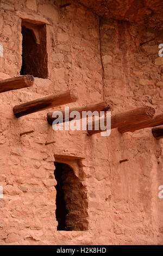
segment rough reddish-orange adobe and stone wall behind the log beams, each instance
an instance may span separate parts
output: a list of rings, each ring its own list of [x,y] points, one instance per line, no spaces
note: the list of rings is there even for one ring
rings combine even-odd
[[[46,120],[48,111],[17,119],[12,107],[75,88],[79,100],[67,106],[111,99],[114,113],[146,104],[160,114],[163,58],[158,57],[158,45],[163,33],[126,22],[99,26],[98,16],[75,2],[64,9],[59,1],[36,2],[0,5],[1,80],[20,74],[21,17],[28,14],[49,23],[48,78],[35,78],[33,87],[0,95],[1,245],[162,243],[162,143],[151,129],[124,135],[115,129],[109,137],[54,132]],[[33,129],[20,137],[20,132]],[[120,164],[125,158],[129,161]],[[87,189],[87,231],[57,231],[54,161],[61,160]]]

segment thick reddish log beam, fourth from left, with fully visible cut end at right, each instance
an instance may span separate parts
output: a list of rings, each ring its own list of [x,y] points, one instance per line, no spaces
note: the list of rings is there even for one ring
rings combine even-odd
[[[130,125],[136,122],[140,122],[142,120],[147,120],[149,118],[153,118],[155,113],[154,108],[148,106],[142,106],[139,108],[132,109],[130,111],[112,115],[111,116],[111,129],[121,127],[124,125]],[[89,135],[93,135],[95,133],[102,132],[101,129],[95,130],[96,123],[99,120],[93,121],[92,123],[92,130],[87,130]],[[104,118],[104,124],[106,125],[106,117]],[[100,127],[100,125],[99,125]]]

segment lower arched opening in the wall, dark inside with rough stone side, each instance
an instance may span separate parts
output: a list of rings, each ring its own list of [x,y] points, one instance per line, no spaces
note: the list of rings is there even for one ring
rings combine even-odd
[[[57,180],[56,210],[57,230],[80,230],[88,228],[86,187],[65,163],[54,162]]]

